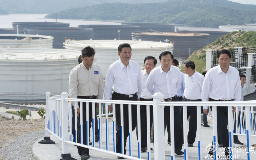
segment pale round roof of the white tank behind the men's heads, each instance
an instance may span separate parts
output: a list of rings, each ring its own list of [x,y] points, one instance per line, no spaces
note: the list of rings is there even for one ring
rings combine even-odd
[[[166,47],[165,42],[153,42],[153,41],[141,41],[141,40],[66,40],[65,44],[75,46],[92,46],[94,48],[113,48],[117,47],[122,43],[129,43],[132,49],[142,48],[159,48]],[[167,43],[168,47],[172,44]]]

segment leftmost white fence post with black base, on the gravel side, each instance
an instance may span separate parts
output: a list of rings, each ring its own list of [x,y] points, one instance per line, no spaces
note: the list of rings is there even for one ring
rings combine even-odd
[[[48,99],[47,97],[50,97],[51,93],[46,92],[46,98],[45,98],[45,129],[44,129],[44,140],[39,141],[38,143],[42,144],[55,144],[53,140],[51,140],[50,133],[49,131],[46,130],[47,128],[47,123],[48,123]]]

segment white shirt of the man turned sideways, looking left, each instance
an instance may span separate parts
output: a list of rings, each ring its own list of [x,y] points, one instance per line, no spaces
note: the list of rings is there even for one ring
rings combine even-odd
[[[201,99],[201,91],[205,77],[195,70],[195,73],[190,77],[184,74],[185,90],[184,97],[186,99]]]

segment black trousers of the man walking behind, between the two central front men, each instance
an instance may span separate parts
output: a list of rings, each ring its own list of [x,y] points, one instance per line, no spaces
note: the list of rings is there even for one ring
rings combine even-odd
[[[153,99],[141,98],[140,101],[153,101]],[[141,147],[147,146],[147,107],[146,105],[141,105]],[[150,119],[150,129],[153,124],[153,106],[149,106],[149,119]],[[136,127],[136,134],[138,139],[138,129]],[[151,133],[150,133],[151,137]]]

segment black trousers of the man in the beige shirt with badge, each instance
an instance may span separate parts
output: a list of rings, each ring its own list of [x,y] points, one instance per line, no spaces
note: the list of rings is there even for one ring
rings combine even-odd
[[[85,97],[84,96],[77,96],[77,98],[81,98],[81,99],[85,99]],[[92,99],[96,99],[97,97],[96,96],[94,96]],[[80,108],[80,103],[78,103],[78,105],[79,105],[79,108]],[[96,106],[96,103],[95,103],[95,106]],[[83,130],[83,142],[82,142],[82,144],[85,144],[86,145],[86,143],[87,143],[87,140],[86,140],[86,102],[83,102],[83,119],[82,119],[82,121],[83,121],[83,125],[82,125],[82,130]],[[77,121],[79,122],[78,124],[80,124],[80,113],[79,113],[79,117],[77,117]],[[88,122],[89,124],[90,123],[92,123],[92,103],[89,103],[89,122]],[[89,125],[89,124],[87,124],[87,125]],[[79,126],[77,126],[78,128],[80,128],[80,125]],[[77,131],[77,133],[78,133],[78,135],[77,135],[77,141],[78,141],[78,143],[81,143],[80,141],[81,141],[81,139],[80,139],[80,137],[81,137],[81,132],[80,132],[80,129]],[[89,153],[89,149],[88,148],[83,148],[83,147],[80,147],[80,146],[78,146],[78,154],[79,155],[81,155],[82,154],[82,152],[84,152],[84,153]]]

